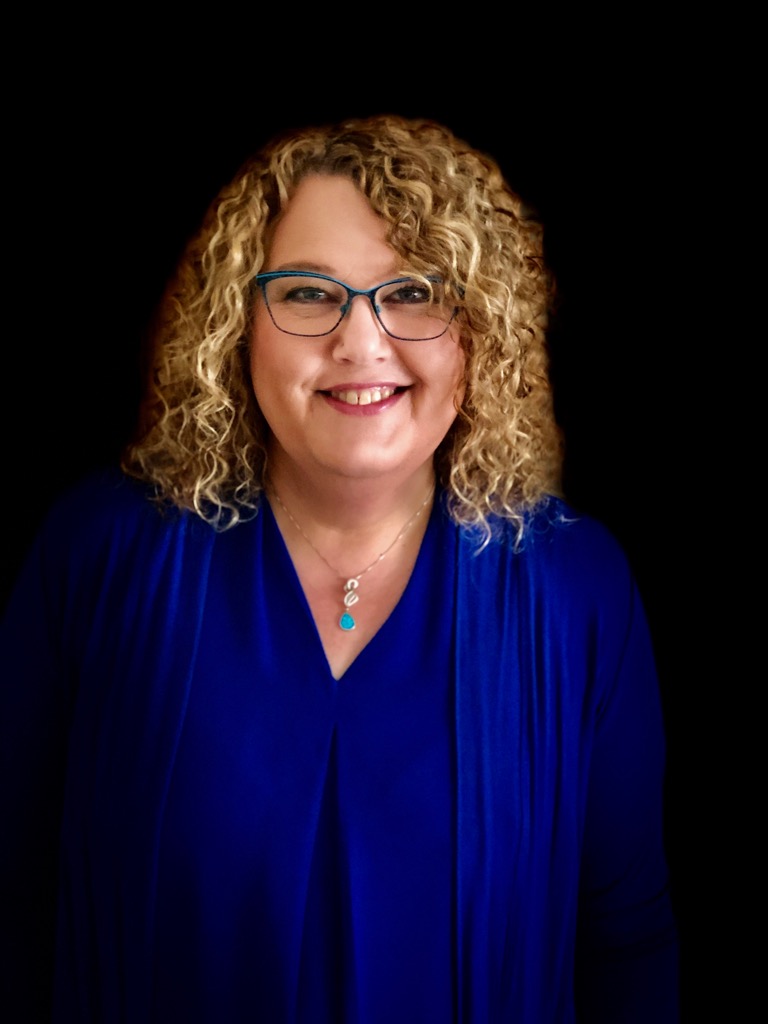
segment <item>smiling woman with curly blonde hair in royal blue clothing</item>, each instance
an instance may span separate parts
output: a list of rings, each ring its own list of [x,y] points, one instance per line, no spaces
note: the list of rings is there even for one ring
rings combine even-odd
[[[123,472],[4,626],[56,1020],[677,1019],[652,655],[557,497],[549,297],[429,122],[294,133],[218,197]]]

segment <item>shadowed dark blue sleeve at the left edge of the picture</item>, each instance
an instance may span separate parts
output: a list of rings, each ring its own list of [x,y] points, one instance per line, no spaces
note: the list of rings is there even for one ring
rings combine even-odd
[[[25,1020],[50,1015],[71,706],[46,547],[39,537],[0,621],[0,1016]]]

